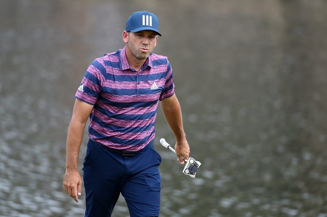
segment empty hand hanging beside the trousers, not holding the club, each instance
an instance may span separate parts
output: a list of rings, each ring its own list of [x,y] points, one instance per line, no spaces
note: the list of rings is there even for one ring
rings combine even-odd
[[[82,191],[82,179],[77,170],[66,170],[65,177],[63,179],[63,186],[65,192],[69,196],[73,197],[78,202],[78,196],[81,195]]]

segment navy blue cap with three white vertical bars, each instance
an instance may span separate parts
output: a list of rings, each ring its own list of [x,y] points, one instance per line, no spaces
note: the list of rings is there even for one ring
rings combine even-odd
[[[147,11],[134,12],[126,22],[127,32],[139,32],[142,30],[153,30],[161,36],[159,32],[159,20],[156,15]]]

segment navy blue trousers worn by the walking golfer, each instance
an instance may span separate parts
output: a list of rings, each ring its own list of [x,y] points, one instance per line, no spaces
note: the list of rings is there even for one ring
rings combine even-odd
[[[85,217],[110,217],[120,193],[130,217],[159,216],[160,163],[154,147],[126,157],[90,139],[83,164]]]

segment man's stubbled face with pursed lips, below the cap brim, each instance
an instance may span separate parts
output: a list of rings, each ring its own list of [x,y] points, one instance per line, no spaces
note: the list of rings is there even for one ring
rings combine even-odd
[[[157,44],[158,36],[152,30],[142,30],[140,32],[129,32],[127,46],[137,59],[146,59]]]

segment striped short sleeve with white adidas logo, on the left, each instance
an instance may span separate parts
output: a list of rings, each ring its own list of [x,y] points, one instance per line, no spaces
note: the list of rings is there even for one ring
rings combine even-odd
[[[86,70],[75,97],[88,104],[94,105],[101,92],[105,76],[106,68],[104,62],[100,58],[95,59]]]

